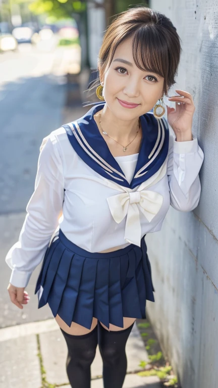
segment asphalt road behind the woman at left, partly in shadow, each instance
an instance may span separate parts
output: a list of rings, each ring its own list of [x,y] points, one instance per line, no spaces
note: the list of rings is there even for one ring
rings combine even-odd
[[[23,310],[13,305],[7,286],[11,270],[5,256],[17,241],[32,195],[44,136],[63,124],[66,85],[57,68],[60,53],[49,47],[22,45],[0,54],[0,327],[51,317],[37,309],[34,287],[39,268],[27,287],[31,297]]]

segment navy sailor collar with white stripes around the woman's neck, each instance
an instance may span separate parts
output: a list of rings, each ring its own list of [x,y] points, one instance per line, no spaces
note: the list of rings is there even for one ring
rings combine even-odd
[[[95,105],[84,116],[63,127],[75,152],[89,167],[104,178],[133,189],[150,178],[165,162],[169,149],[167,121],[157,120],[152,112],[140,116],[142,140],[133,179],[129,183],[93,117],[103,109],[104,104]]]

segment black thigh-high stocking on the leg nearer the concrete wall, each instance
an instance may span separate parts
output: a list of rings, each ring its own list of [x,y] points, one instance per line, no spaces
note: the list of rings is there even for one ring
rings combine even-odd
[[[108,331],[98,322],[98,346],[103,361],[104,388],[122,388],[127,370],[126,343],[134,323],[127,329]]]

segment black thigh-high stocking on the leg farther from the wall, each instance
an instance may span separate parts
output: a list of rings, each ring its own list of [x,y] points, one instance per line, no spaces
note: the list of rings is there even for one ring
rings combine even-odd
[[[71,335],[62,330],[68,347],[67,375],[73,388],[90,388],[91,363],[97,347],[97,325],[87,334]]]

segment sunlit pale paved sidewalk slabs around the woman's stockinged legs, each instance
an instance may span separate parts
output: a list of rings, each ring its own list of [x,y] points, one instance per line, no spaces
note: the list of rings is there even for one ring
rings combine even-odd
[[[70,388],[65,368],[66,344],[54,319],[1,329],[0,349],[0,388]],[[128,368],[123,388],[160,388],[156,376],[137,375],[140,361],[148,361],[148,355],[136,323],[126,352]],[[98,347],[91,378],[91,388],[103,388]]]

